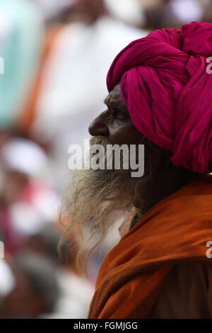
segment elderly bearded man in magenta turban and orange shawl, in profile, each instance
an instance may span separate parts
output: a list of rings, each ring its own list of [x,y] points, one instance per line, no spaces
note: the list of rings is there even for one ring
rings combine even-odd
[[[105,235],[133,207],[100,267],[89,318],[212,317],[212,24],[193,22],[135,40],[107,75],[107,110],[91,145],[144,145],[131,170],[82,170],[66,204],[71,225]]]

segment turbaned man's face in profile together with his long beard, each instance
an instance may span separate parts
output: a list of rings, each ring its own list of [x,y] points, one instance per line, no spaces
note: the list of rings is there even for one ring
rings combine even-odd
[[[93,135],[90,147],[102,145],[107,152],[107,148],[111,145],[141,145],[143,135],[131,123],[120,86],[114,88],[106,98],[105,104],[107,110],[90,124],[89,132]],[[148,154],[146,156],[148,159]],[[90,157],[93,157],[93,152],[90,152]],[[107,154],[102,158],[105,161]],[[122,165],[121,155],[119,159]],[[105,165],[107,166],[107,162]],[[63,198],[62,213],[64,212],[67,221],[66,230],[71,230],[75,225],[83,230],[83,227],[89,225],[91,239],[95,235],[100,235],[102,238],[120,214],[131,210],[134,206],[142,213],[147,209],[143,198],[148,198],[147,191],[150,193],[148,186],[150,172],[151,169],[147,164],[143,176],[131,176],[131,163],[128,169],[116,168],[113,164],[112,169],[91,167],[75,171]]]

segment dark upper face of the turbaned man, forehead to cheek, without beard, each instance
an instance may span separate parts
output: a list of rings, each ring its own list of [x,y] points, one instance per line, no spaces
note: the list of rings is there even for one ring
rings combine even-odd
[[[107,110],[100,113],[89,126],[90,135],[106,137],[112,145],[139,144],[143,135],[131,122],[119,85],[107,96],[105,104]]]

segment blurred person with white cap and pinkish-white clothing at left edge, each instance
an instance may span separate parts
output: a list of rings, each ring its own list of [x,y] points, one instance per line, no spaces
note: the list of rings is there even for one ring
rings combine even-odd
[[[6,252],[57,217],[57,193],[47,181],[47,155],[35,142],[14,137],[0,150],[0,228]]]

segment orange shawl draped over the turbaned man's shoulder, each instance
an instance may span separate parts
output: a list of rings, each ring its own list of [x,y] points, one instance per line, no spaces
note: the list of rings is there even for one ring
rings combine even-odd
[[[212,264],[212,175],[154,205],[100,267],[88,318],[145,318],[179,261]]]

